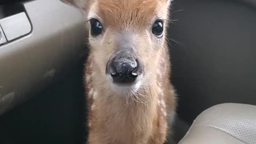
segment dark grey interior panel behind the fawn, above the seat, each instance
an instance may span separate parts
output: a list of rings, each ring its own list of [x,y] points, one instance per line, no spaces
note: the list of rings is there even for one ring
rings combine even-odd
[[[172,82],[179,94],[178,114],[189,124],[219,103],[256,105],[256,10],[246,2],[173,4]]]

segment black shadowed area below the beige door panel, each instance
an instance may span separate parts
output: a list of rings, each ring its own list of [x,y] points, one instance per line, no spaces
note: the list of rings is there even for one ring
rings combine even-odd
[[[87,134],[83,63],[0,116],[0,143],[82,143]]]

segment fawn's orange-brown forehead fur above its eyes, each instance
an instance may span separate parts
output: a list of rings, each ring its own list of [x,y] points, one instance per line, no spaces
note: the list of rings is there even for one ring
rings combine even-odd
[[[147,27],[166,15],[166,0],[98,0],[92,6],[104,25],[114,28]]]

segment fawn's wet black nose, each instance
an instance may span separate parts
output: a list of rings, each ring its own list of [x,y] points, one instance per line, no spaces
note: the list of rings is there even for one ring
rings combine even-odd
[[[115,83],[132,83],[137,78],[138,61],[134,57],[116,57],[110,64]]]

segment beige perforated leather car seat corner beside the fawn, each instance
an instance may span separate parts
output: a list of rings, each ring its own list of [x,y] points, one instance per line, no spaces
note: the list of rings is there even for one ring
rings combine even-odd
[[[256,106],[224,103],[200,114],[179,144],[255,144]]]

